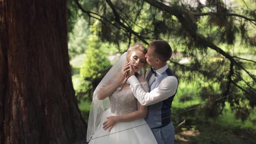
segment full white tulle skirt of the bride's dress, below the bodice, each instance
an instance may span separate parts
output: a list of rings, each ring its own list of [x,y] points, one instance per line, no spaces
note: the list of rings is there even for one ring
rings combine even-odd
[[[117,116],[109,108],[101,119],[100,128],[95,131],[89,144],[157,144],[144,118],[129,122],[118,122],[110,132],[104,130],[103,123],[109,116]]]

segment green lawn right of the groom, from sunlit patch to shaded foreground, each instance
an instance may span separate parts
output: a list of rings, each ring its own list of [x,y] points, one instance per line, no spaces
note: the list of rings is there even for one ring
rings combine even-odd
[[[255,144],[256,110],[242,121],[236,119],[235,112],[226,102],[222,115],[217,118],[205,117],[202,113],[207,105],[203,104],[207,103],[200,99],[198,88],[193,83],[179,85],[180,91],[174,98],[171,118],[176,133],[175,144]]]

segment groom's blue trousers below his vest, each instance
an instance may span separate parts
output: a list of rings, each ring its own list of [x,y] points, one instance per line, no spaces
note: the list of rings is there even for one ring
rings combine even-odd
[[[158,144],[174,144],[174,126],[172,123],[162,128],[151,128]]]

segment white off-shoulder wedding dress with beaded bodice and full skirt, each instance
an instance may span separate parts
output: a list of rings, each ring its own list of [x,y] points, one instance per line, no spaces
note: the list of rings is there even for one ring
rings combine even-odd
[[[148,83],[142,82],[142,88],[148,92]],[[131,89],[115,90],[109,97],[110,108],[102,115],[100,128],[95,131],[89,144],[157,144],[154,135],[144,118],[129,122],[118,122],[110,132],[103,129],[103,123],[109,116],[125,115],[137,110],[138,101]]]

